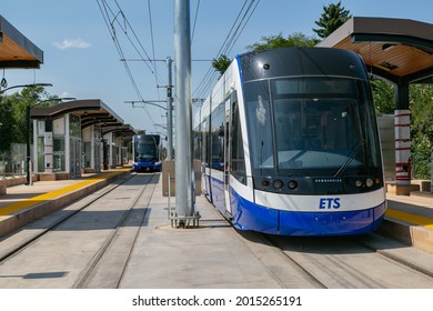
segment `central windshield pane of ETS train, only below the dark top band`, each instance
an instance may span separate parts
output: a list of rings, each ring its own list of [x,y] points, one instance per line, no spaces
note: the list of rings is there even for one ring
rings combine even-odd
[[[280,168],[335,167],[352,146],[362,141],[354,100],[302,99],[273,103]]]

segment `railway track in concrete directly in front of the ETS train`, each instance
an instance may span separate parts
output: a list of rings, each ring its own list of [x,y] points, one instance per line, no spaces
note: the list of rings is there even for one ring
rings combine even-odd
[[[332,238],[240,234],[284,288],[433,288],[431,254],[377,234]],[[281,258],[280,262],[269,262],[261,255],[263,252],[273,259]]]

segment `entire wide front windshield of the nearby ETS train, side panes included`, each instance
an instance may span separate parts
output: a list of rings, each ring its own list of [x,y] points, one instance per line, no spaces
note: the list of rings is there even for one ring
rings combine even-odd
[[[366,174],[381,168],[366,82],[280,78],[244,84],[255,175]]]

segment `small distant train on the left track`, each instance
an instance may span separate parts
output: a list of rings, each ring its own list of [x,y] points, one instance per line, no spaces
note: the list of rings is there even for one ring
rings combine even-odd
[[[135,172],[161,171],[161,137],[137,134],[132,137],[132,169]]]

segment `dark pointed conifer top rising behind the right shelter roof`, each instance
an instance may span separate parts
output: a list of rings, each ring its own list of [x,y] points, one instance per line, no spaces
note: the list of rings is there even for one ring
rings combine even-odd
[[[320,28],[313,28],[313,31],[318,33],[320,38],[324,39],[351,18],[350,11],[341,6],[341,1],[336,4],[331,3],[328,7],[323,6],[321,18],[315,21],[315,24]]]

